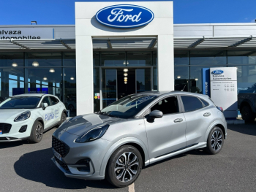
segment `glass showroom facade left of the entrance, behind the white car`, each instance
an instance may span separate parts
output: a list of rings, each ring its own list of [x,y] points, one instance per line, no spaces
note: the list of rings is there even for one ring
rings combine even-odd
[[[0,53],[0,96],[22,93],[58,96],[75,116],[75,52]]]

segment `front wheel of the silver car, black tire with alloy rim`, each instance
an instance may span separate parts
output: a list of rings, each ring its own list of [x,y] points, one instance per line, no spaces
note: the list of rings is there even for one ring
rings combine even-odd
[[[125,164],[124,155],[126,158],[129,157],[127,164]],[[143,159],[138,149],[131,145],[124,145],[119,147],[111,155],[106,168],[105,177],[112,185],[115,185],[118,188],[124,188],[137,180],[140,175],[142,165]]]

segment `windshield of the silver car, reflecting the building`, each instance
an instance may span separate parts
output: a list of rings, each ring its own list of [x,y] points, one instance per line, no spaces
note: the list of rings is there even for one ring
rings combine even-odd
[[[156,98],[157,96],[148,95],[126,96],[123,99],[113,102],[113,104],[101,110],[99,114],[116,118],[132,118]]]

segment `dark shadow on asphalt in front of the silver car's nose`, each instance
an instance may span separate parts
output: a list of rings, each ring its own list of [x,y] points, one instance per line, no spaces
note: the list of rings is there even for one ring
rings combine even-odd
[[[51,188],[83,189],[113,188],[105,180],[79,180],[64,176],[50,160],[53,157],[51,148],[26,153],[14,164],[15,172],[26,180],[43,183]]]

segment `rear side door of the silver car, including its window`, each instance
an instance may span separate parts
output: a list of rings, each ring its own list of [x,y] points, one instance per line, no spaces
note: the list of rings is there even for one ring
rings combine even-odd
[[[211,105],[197,96],[181,96],[187,122],[187,146],[205,141],[207,128],[214,122]]]

